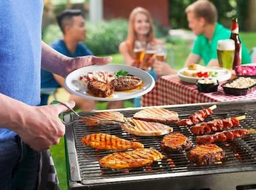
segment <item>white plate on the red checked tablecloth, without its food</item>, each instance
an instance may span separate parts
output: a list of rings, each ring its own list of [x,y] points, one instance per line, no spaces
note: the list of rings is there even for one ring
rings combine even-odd
[[[225,68],[221,68],[221,67],[207,67],[206,68],[208,72],[218,72],[217,75],[217,80],[219,80],[219,82],[225,81],[225,80],[229,80],[231,77],[231,72]],[[198,79],[201,79],[203,77],[189,77],[186,75],[183,75],[184,70],[187,70],[187,68],[183,68],[178,70],[178,77],[180,77],[181,80],[187,82],[187,83],[195,83]]]

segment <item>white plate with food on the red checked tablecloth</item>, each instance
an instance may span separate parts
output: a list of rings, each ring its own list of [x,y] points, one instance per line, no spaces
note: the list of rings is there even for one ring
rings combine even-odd
[[[178,71],[178,77],[187,83],[196,83],[200,79],[216,78],[219,82],[229,80],[230,70],[217,66],[202,66],[200,64],[189,64],[188,67]]]

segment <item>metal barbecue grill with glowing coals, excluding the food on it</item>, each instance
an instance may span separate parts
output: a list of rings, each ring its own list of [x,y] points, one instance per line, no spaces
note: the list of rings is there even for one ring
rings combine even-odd
[[[213,104],[217,104],[217,109],[205,121],[246,115],[246,119],[240,121],[241,127],[256,129],[256,100],[161,107],[176,111],[182,119],[188,118],[202,107],[210,107]],[[129,118],[143,108],[118,111]],[[86,116],[91,113],[80,113],[80,115]],[[75,120],[78,120],[78,117],[74,114],[64,115],[66,122]],[[181,132],[196,145],[195,135],[189,131],[189,127],[175,124],[170,124],[170,126],[173,127],[174,132]],[[116,151],[94,150],[81,143],[83,136],[96,132],[141,142],[145,148],[157,149],[165,155],[165,158],[146,167],[129,170],[103,168],[99,165],[99,159]],[[88,127],[83,123],[75,122],[72,126],[67,126],[65,140],[70,189],[256,189],[255,134],[242,139],[216,143],[225,151],[226,157],[222,162],[208,166],[190,164],[187,152],[164,153],[160,149],[162,137],[138,137],[128,134],[121,129],[118,123]]]

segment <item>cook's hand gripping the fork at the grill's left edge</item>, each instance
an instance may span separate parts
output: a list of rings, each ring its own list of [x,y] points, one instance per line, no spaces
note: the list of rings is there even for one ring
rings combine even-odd
[[[75,107],[75,102],[71,101],[67,105]],[[59,120],[59,114],[65,111],[67,107],[62,104],[29,107],[23,113],[20,128],[16,132],[35,151],[48,149],[51,145],[58,144],[65,134],[65,126]]]

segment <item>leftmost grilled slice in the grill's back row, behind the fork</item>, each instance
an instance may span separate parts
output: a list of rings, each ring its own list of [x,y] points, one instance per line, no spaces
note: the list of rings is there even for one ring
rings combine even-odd
[[[124,121],[124,115],[118,112],[100,112],[94,115],[89,115],[87,117],[81,118],[83,123],[86,123],[87,126],[97,126],[101,120],[117,120]],[[114,121],[102,121],[100,123],[104,124],[113,124]]]

